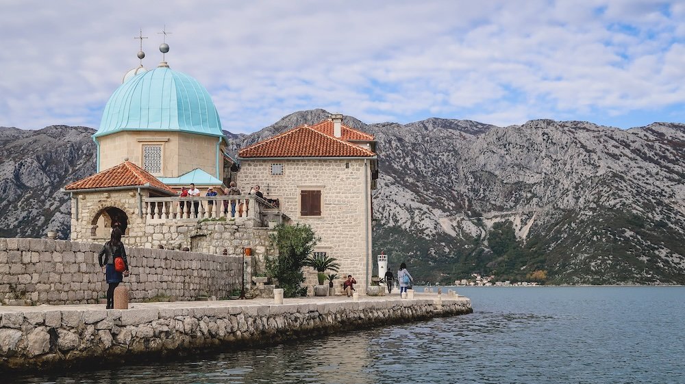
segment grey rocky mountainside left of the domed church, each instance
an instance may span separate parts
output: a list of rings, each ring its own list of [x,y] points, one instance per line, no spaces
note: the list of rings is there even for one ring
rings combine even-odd
[[[69,237],[67,183],[95,173],[94,129],[0,127],[0,237]]]

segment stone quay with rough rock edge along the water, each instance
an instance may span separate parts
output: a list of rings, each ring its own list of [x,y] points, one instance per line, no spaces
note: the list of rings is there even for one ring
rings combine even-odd
[[[140,303],[128,310],[0,307],[0,371],[271,344],[473,311],[468,298],[345,299]]]

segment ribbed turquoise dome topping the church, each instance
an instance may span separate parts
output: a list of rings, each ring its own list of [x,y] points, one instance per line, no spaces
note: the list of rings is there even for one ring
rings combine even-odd
[[[223,137],[207,90],[192,77],[160,67],[114,91],[95,137],[119,131],[182,131]]]

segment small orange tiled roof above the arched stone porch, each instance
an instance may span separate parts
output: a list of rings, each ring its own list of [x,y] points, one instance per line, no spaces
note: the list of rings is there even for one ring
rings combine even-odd
[[[127,186],[142,186],[149,183],[149,185],[174,192],[173,188],[169,187],[159,181],[153,175],[150,175],[146,170],[136,166],[132,162],[123,162],[118,166],[105,169],[95,175],[90,175],[85,179],[74,181],[66,185],[65,190],[90,190],[95,188],[112,188],[112,187],[127,187]]]

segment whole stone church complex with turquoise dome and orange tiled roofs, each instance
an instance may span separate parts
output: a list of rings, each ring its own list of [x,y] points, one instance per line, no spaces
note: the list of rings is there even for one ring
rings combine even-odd
[[[263,268],[269,231],[302,223],[335,257],[360,292],[371,275],[371,190],[377,179],[373,136],[336,114],[227,155],[227,138],[207,90],[166,62],[128,73],[93,135],[97,173],[64,187],[71,194],[71,240],[104,242],[112,227],[143,248],[242,255]],[[242,194],[225,196],[235,181]],[[194,184],[200,196],[179,196]],[[260,185],[264,199],[248,194]],[[206,196],[208,189],[218,195]],[[311,269],[311,268],[309,268]],[[307,283],[315,281],[308,272]]]

